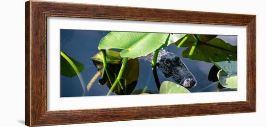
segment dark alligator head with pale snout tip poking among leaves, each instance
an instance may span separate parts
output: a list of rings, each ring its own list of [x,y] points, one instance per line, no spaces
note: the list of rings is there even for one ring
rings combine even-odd
[[[174,53],[163,55],[157,66],[162,69],[164,77],[171,77],[185,88],[191,88],[196,85],[196,79],[192,73]]]

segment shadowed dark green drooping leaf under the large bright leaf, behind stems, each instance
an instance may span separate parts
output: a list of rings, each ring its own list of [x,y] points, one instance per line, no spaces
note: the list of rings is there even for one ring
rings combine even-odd
[[[119,52],[113,50],[106,50],[106,61],[107,67],[110,71],[110,75],[113,79],[116,79],[121,67],[122,58],[119,56]],[[92,57],[92,61],[94,65],[98,68],[98,70],[103,74],[102,79],[99,80],[100,84],[106,84],[109,88],[111,88],[112,84],[109,82],[108,77],[105,73],[103,73],[103,59],[102,52],[97,53]],[[129,59],[126,67],[124,69],[124,73],[122,79],[119,84],[115,87],[114,92],[118,95],[130,95],[136,84],[139,76],[139,62],[137,59]]]

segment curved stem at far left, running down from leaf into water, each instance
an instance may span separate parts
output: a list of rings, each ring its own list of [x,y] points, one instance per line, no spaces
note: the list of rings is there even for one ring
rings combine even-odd
[[[71,67],[74,69],[74,71],[77,74],[77,77],[80,81],[80,84],[81,84],[81,87],[83,90],[83,95],[87,95],[88,91],[86,90],[87,88],[86,88],[84,79],[83,79],[82,75],[80,74],[79,70],[77,69],[77,66],[75,65],[75,63],[64,52],[60,51],[60,55],[62,57],[64,57],[66,59],[66,61],[71,65]]]

